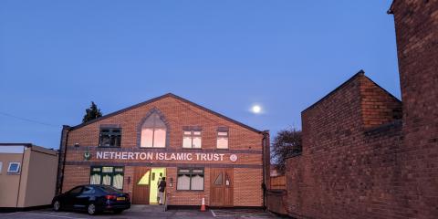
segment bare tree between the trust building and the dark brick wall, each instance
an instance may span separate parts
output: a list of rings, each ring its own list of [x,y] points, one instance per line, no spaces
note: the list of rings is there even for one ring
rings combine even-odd
[[[285,129],[276,133],[271,146],[271,157],[277,165],[277,172],[286,171],[286,159],[302,151],[301,130]]]

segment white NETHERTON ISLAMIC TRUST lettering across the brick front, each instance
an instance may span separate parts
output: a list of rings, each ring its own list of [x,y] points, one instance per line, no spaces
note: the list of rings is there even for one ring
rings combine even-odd
[[[224,153],[97,151],[98,160],[222,162]],[[230,158],[231,159],[231,158]],[[235,156],[237,160],[237,156]]]

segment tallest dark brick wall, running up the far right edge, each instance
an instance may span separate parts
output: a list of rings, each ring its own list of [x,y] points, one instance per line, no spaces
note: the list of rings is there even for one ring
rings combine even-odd
[[[395,0],[404,200],[416,218],[438,218],[438,1]]]

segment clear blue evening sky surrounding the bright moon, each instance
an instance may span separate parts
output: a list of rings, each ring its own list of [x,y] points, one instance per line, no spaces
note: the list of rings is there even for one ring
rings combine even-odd
[[[57,148],[91,100],[107,114],[168,92],[275,135],[360,69],[400,97],[390,5],[0,1],[0,142]]]

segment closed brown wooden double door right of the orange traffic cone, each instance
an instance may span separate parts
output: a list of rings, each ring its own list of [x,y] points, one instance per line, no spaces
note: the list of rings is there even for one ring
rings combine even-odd
[[[212,168],[210,178],[210,205],[233,206],[234,181],[232,168]]]

